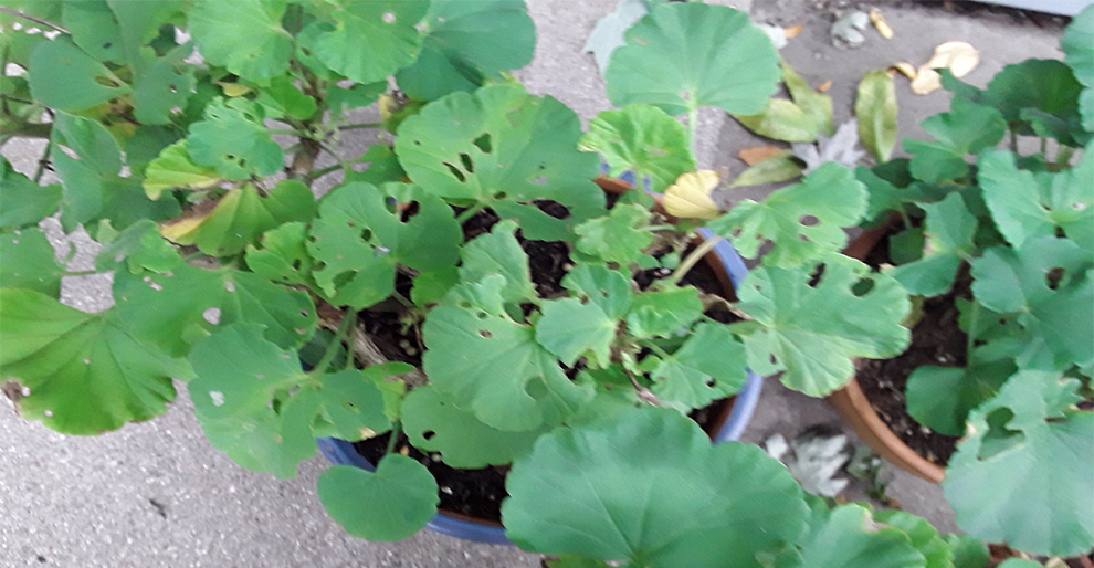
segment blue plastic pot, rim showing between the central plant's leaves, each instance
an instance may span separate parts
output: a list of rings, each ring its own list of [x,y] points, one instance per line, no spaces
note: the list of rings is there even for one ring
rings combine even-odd
[[[631,179],[627,179],[624,175],[622,179],[633,183],[633,176]],[[711,239],[714,233],[708,229],[699,229],[699,233],[705,239]],[[723,266],[725,266],[726,272],[729,274],[729,280],[733,282],[734,287],[740,284],[744,280],[745,274],[748,269],[745,267],[745,262],[740,260],[740,255],[734,250],[733,245],[728,241],[723,240],[720,243],[715,245],[714,252],[722,260]],[[764,387],[764,378],[756,375],[753,371],[748,371],[748,381],[745,387],[740,389],[737,393],[737,398],[734,401],[733,409],[729,411],[729,417],[726,422],[722,425],[722,429],[713,436],[714,443],[720,443],[726,441],[733,441],[740,438],[740,434],[745,431],[745,425],[753,418],[753,411],[756,410],[756,403],[759,401],[760,389]],[[368,471],[376,471],[376,466],[369,463],[364,456],[354,450],[354,444],[345,440],[338,440],[336,438],[322,438],[318,440],[319,452],[323,453],[330,461],[330,463],[336,465],[355,465]],[[454,536],[456,538],[462,538],[464,540],[473,540],[475,543],[488,543],[492,545],[512,545],[508,538],[505,537],[505,528],[483,523],[471,523],[454,518],[444,513],[438,513],[432,520],[425,525],[427,528],[440,533],[442,535]]]

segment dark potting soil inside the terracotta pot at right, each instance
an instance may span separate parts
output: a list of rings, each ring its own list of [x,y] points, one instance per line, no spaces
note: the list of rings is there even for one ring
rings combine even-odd
[[[888,262],[887,243],[886,238],[874,246],[865,259],[866,264],[879,266]],[[912,418],[904,391],[908,376],[921,366],[965,366],[968,336],[957,326],[958,311],[954,302],[959,297],[972,297],[970,284],[968,267],[962,266],[948,293],[924,302],[923,317],[912,328],[912,345],[906,351],[892,359],[863,359],[856,366],[859,386],[890,430],[917,454],[943,466],[956,451],[960,438],[935,432]]]

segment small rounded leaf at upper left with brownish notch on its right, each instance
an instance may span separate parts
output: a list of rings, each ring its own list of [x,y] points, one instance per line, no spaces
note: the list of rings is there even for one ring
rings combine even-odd
[[[31,94],[57,111],[83,111],[132,91],[67,35],[39,44],[28,69]]]

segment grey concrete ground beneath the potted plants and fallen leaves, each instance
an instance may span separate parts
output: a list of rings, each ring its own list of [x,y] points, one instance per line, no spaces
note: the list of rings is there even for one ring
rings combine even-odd
[[[580,53],[597,19],[614,0],[572,2],[528,0],[539,43],[535,61],[517,73],[529,91],[551,94],[583,118],[608,108],[591,55]],[[761,22],[803,24],[782,55],[812,85],[833,82],[837,122],[851,116],[859,78],[896,61],[926,62],[935,45],[950,40],[972,43],[981,63],[967,81],[983,85],[1003,65],[1027,57],[1062,56],[1058,20],[1028,19],[990,11],[955,14],[939,6],[883,3],[895,38],[873,30],[858,50],[834,48],[828,39],[832,10],[850,0],[720,0],[751,10]],[[862,3],[862,6],[866,6]],[[897,77],[901,136],[922,137],[917,126],[944,111],[948,95],[912,95]],[[737,151],[766,144],[720,112],[704,112],[699,129],[701,166],[744,169]],[[349,143],[354,148],[364,140]],[[3,152],[27,172],[39,150],[27,140],[9,143]],[[357,151],[357,155],[360,152]],[[754,197],[741,192],[730,199]],[[755,196],[758,197],[758,196]],[[54,241],[63,236],[54,234]],[[85,251],[86,253],[86,251]],[[86,262],[86,257],[77,259]],[[77,269],[77,266],[72,266]],[[65,302],[103,308],[109,276],[65,283]],[[183,392],[164,416],[117,432],[77,439],[19,419],[0,402],[0,566],[93,567],[535,567],[538,558],[512,547],[464,543],[421,533],[399,543],[368,543],[348,536],[323,511],[315,482],[327,466],[320,457],[304,462],[299,476],[278,481],[242,470],[206,441]],[[822,401],[787,391],[768,381],[745,435],[759,442],[780,432],[788,436],[818,423],[839,425]],[[895,474],[891,496],[944,532],[953,513],[940,491],[908,475]]]

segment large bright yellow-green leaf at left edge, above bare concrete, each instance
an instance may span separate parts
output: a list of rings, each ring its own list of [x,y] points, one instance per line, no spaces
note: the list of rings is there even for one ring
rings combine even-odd
[[[30,395],[19,413],[67,434],[97,434],[166,410],[190,366],[146,344],[113,312],[85,314],[30,290],[0,290],[0,375]]]

